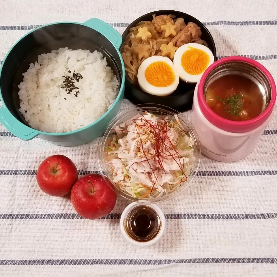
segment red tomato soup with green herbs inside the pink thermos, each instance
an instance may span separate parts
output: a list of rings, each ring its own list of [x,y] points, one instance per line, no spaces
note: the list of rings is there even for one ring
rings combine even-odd
[[[240,75],[225,75],[215,80],[207,88],[205,99],[217,115],[233,121],[253,119],[263,109],[258,85]]]

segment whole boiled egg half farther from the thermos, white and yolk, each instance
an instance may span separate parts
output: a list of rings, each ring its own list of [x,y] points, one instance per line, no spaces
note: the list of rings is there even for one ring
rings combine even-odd
[[[168,96],[179,84],[179,74],[171,59],[152,56],[145,59],[138,69],[141,89],[156,96]]]

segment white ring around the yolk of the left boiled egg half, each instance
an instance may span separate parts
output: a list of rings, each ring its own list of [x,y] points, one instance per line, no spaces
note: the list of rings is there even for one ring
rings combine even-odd
[[[172,68],[172,70],[175,74],[175,81],[173,82],[173,84],[169,85],[168,87],[155,87],[155,86],[149,84],[145,78],[146,68],[151,63],[154,63],[156,61],[166,62]],[[145,59],[139,66],[137,77],[138,77],[138,82],[139,82],[139,86],[141,87],[141,89],[149,94],[156,95],[156,96],[170,95],[171,93],[173,93],[173,91],[176,90],[176,88],[179,84],[179,74],[178,74],[177,70],[174,68],[173,62],[171,61],[171,59],[169,59],[167,57],[162,57],[162,56],[152,56],[152,57]]]

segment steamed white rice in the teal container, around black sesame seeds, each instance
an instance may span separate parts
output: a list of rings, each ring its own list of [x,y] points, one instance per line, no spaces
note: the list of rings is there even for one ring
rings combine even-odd
[[[77,97],[75,90],[67,94],[61,88],[62,76],[71,77],[74,70],[83,76],[74,83]],[[39,55],[22,75],[19,111],[32,128],[44,132],[69,132],[89,125],[108,110],[119,90],[116,76],[98,51],[60,48]]]

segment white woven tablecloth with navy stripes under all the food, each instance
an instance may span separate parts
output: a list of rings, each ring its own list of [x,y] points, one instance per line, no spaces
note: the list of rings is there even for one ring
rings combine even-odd
[[[135,18],[159,9],[195,16],[212,33],[219,57],[256,59],[277,81],[274,0],[1,0],[0,63],[39,25],[98,17],[122,33]],[[131,105],[124,100],[121,108]],[[0,276],[276,276],[276,138],[275,113],[246,159],[203,157],[193,184],[160,204],[167,224],[162,241],[142,250],[119,231],[126,200],[119,197],[111,214],[92,221],[81,219],[68,198],[38,189],[38,164],[53,154],[70,157],[80,175],[97,171],[98,140],[59,147],[37,138],[21,141],[0,126]]]

